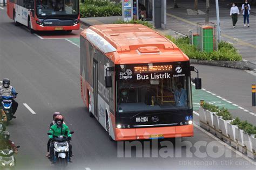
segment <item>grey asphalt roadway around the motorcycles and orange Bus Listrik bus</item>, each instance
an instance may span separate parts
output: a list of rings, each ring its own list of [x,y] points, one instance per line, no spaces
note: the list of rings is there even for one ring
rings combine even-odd
[[[118,152],[117,146],[130,143],[111,142],[102,126],[85,110],[80,98],[79,48],[64,39],[41,40],[24,26],[14,26],[5,12],[0,9],[0,79],[9,77],[19,93],[17,119],[7,128],[11,139],[21,146],[16,156],[17,169],[55,169],[44,156],[46,133],[54,111],[62,112],[70,130],[75,131],[72,140],[75,155],[67,169],[255,169],[250,161],[197,128],[193,138],[176,141],[175,148],[171,148],[173,140],[163,140],[153,149],[147,148],[149,141],[142,141],[138,145],[143,144],[143,155],[136,157],[136,151],[143,149],[133,147],[129,158],[127,147],[128,158],[118,158],[122,152]],[[23,103],[36,114],[31,114]],[[186,154],[186,147],[180,146],[184,141],[194,146],[190,148],[192,157]],[[207,147],[197,150],[197,144]],[[211,144],[214,144],[212,149]],[[207,153],[206,157],[200,158],[199,151]],[[164,158],[172,153],[174,158]],[[215,158],[214,153],[222,154]]]

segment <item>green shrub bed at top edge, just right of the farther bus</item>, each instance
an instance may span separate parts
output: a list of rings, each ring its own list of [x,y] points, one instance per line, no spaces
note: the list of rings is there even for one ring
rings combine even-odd
[[[108,1],[85,0],[80,3],[82,17],[108,17],[122,15],[122,4]]]

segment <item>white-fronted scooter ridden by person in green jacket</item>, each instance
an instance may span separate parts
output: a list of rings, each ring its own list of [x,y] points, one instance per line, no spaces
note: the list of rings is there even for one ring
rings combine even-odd
[[[70,134],[73,134],[74,132],[70,132]],[[48,135],[51,135],[52,133],[47,133]],[[57,163],[57,165],[66,166],[68,165],[69,161],[69,139],[68,137],[65,137],[63,135],[61,136],[55,136],[52,139],[52,143],[54,144],[54,150],[53,150],[53,162]]]

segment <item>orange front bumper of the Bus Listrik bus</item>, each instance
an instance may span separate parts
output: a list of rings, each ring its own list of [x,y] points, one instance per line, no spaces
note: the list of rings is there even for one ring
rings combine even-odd
[[[193,125],[166,126],[159,128],[116,128],[115,140],[154,139],[157,138],[157,136],[159,136],[159,138],[193,137]]]

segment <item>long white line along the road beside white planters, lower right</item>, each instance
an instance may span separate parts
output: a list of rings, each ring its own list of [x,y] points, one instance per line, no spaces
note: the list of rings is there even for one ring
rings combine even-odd
[[[242,154],[241,152],[239,152],[238,150],[235,150],[235,148],[231,147],[230,145],[226,144],[224,141],[220,140],[219,138],[213,136],[213,134],[211,134],[210,132],[205,131],[204,129],[200,128],[200,126],[193,124],[197,129],[199,129],[200,131],[204,132],[205,134],[207,134],[208,136],[212,137],[214,140],[218,141],[220,144],[225,145],[227,148],[229,148],[231,151],[233,151],[234,153],[238,154],[240,157],[246,159],[248,162],[250,162],[253,165],[256,165],[256,162],[254,162],[253,160],[251,160],[250,158],[246,157],[246,155]]]

